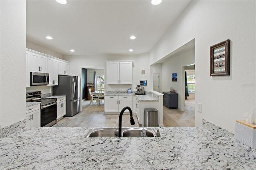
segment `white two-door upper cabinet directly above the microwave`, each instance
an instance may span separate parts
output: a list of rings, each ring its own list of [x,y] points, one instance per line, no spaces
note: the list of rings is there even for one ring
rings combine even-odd
[[[47,57],[30,52],[30,72],[47,73]]]

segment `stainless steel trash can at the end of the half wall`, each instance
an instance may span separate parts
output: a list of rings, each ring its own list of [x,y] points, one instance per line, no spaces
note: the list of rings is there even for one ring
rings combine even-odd
[[[155,108],[144,109],[144,127],[158,127],[158,110]]]

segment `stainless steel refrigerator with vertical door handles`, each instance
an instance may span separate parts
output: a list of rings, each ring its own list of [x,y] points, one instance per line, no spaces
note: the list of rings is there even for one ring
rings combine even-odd
[[[53,87],[53,95],[66,95],[66,115],[71,117],[80,112],[80,77],[59,75],[59,85]]]

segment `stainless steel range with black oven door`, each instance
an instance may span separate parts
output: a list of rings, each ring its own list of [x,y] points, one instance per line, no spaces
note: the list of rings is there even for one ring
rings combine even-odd
[[[41,98],[41,91],[26,94],[27,102],[40,102],[41,127],[51,127],[57,122],[57,99]]]

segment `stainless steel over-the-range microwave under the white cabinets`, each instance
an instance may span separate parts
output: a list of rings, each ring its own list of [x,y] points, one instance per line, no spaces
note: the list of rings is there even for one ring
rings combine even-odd
[[[48,73],[30,72],[30,85],[48,85],[48,84],[49,84]]]

